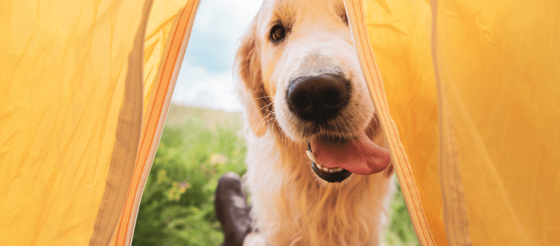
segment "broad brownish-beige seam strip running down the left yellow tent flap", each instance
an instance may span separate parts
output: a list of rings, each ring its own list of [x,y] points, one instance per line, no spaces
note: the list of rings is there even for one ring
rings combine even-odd
[[[134,38],[134,47],[128,58],[127,77],[116,127],[115,145],[105,191],[94,224],[94,232],[90,238],[89,245],[91,246],[109,244],[113,229],[124,206],[134,171],[133,164],[136,162],[142,127],[144,33],[151,6],[152,0],[144,2],[142,20]]]

